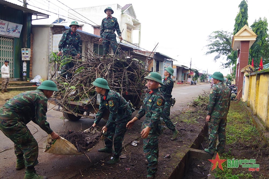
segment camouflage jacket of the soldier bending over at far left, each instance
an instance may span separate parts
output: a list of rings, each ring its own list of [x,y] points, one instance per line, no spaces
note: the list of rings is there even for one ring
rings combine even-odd
[[[26,125],[33,121],[50,134],[53,131],[46,121],[47,102],[48,98],[39,89],[18,94],[0,109],[0,121],[11,126],[15,126],[18,122]]]

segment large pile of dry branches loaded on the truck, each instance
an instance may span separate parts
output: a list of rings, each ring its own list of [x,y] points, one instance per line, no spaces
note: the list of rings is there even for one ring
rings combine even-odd
[[[56,75],[61,71],[64,63],[74,63],[74,67],[68,70],[72,73],[70,78],[65,74]],[[147,75],[147,66],[142,61],[122,56],[97,56],[87,52],[81,59],[54,60],[57,64],[51,79],[57,82],[59,92],[54,96],[58,97],[60,103],[66,101],[81,101],[92,99],[95,95],[95,87],[91,83],[99,77],[105,78],[111,90],[120,94],[134,93],[139,95],[143,88],[143,80]]]

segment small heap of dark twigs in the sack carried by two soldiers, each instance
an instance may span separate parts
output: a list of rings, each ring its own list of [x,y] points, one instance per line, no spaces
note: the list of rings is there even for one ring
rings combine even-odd
[[[68,131],[66,134],[60,136],[72,143],[79,152],[87,152],[88,149],[93,148],[98,143],[101,135],[102,130],[96,131],[95,134],[90,132]]]

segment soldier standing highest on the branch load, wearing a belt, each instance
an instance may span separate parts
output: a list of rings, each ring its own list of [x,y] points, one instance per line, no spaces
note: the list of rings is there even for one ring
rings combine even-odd
[[[104,55],[109,53],[109,44],[115,55],[117,54],[116,53],[117,40],[115,31],[117,31],[117,34],[120,40],[122,41],[121,30],[117,18],[111,16],[114,13],[111,7],[105,8],[105,13],[107,17],[104,18],[101,23],[101,29],[100,29],[101,39],[99,40],[99,42],[100,43],[103,42]]]

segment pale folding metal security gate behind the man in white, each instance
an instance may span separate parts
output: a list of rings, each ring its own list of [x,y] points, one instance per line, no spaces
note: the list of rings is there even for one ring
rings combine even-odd
[[[9,61],[10,77],[14,77],[14,38],[0,36],[0,65],[4,65],[4,61]]]

